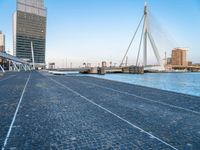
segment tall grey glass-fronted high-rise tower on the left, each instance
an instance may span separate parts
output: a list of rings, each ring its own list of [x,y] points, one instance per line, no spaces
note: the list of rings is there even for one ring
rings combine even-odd
[[[17,0],[13,15],[14,55],[28,62],[34,58],[36,66],[45,65],[46,16],[44,0]]]

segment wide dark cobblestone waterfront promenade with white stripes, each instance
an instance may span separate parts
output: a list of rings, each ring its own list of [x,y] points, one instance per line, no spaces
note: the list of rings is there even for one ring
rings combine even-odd
[[[200,97],[87,76],[0,76],[2,149],[199,149]]]

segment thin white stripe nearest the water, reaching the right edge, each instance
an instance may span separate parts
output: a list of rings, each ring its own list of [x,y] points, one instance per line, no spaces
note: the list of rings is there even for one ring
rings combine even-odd
[[[184,110],[184,111],[188,111],[188,112],[200,115],[200,112],[194,111],[194,110],[191,110],[191,109],[187,109],[187,108],[183,108],[183,107],[180,107],[180,106],[171,105],[171,104],[168,104],[168,103],[165,103],[165,102],[159,102],[159,101],[156,101],[156,100],[152,100],[152,99],[149,99],[149,98],[145,98],[145,97],[142,97],[142,96],[131,94],[131,93],[128,93],[128,92],[123,92],[123,91],[119,91],[119,90],[116,90],[116,89],[113,89],[113,88],[109,88],[109,87],[104,87],[104,86],[101,86],[101,85],[97,85],[95,83],[88,83],[88,82],[84,82],[84,81],[80,81],[80,80],[79,80],[79,82],[82,82],[82,83],[85,83],[85,84],[94,85],[94,86],[97,86],[97,87],[100,87],[100,88],[103,88],[103,89],[115,91],[115,92],[118,92],[118,93],[121,93],[121,94],[126,94],[126,95],[129,95],[129,96],[133,96],[133,97],[137,97],[137,98],[140,98],[140,99],[144,99],[146,101],[151,101],[151,102],[154,102],[154,103],[159,103],[161,105],[173,107],[173,108],[176,108],[176,109],[181,109],[181,110]]]

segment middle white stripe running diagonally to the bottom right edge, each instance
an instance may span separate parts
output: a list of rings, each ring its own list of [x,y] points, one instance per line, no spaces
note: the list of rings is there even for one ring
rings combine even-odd
[[[44,76],[44,75],[43,75],[43,76]],[[56,80],[54,80],[54,79],[52,79],[52,78],[50,78],[50,77],[47,77],[47,78],[49,78],[49,79],[50,79],[50,80],[52,80],[53,82],[57,83],[58,85],[61,85],[61,86],[63,86],[64,88],[66,88],[67,90],[71,91],[72,93],[74,93],[74,94],[76,94],[76,95],[80,96],[81,98],[85,99],[86,101],[88,101],[88,102],[92,103],[93,105],[95,105],[95,106],[97,106],[97,107],[99,107],[99,108],[103,109],[104,111],[106,111],[106,112],[108,112],[108,113],[112,114],[113,116],[117,117],[118,119],[120,119],[120,120],[122,120],[122,121],[126,122],[126,123],[127,123],[127,124],[129,124],[130,126],[132,126],[132,127],[136,128],[136,129],[140,130],[140,132],[143,132],[143,133],[145,133],[145,134],[149,135],[150,137],[152,137],[152,138],[154,138],[154,139],[156,139],[156,140],[160,141],[161,143],[163,143],[163,144],[165,144],[165,145],[167,145],[167,146],[171,147],[171,148],[172,148],[172,149],[174,149],[174,150],[178,150],[178,149],[177,149],[177,148],[175,148],[174,146],[172,146],[172,145],[168,144],[167,142],[165,142],[165,141],[161,140],[160,138],[158,138],[158,137],[154,136],[153,134],[151,134],[151,133],[149,133],[149,132],[147,132],[147,131],[143,130],[142,128],[140,128],[140,127],[138,127],[138,126],[136,126],[136,125],[132,124],[132,123],[131,123],[131,122],[129,122],[128,120],[126,120],[126,119],[124,119],[124,118],[122,118],[122,117],[118,116],[117,114],[115,114],[115,113],[111,112],[110,110],[108,110],[108,109],[104,108],[103,106],[101,106],[101,105],[99,105],[99,104],[97,104],[97,103],[93,102],[92,100],[88,99],[87,97],[85,97],[85,96],[83,96],[83,95],[79,94],[78,92],[74,91],[73,89],[71,89],[71,88],[69,88],[69,87],[65,86],[64,84],[62,84],[62,83],[60,83],[60,82],[58,82],[58,81],[56,81]]]

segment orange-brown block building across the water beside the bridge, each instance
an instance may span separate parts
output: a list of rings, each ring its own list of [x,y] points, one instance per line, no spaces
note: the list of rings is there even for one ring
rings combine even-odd
[[[187,66],[187,48],[174,48],[172,50],[172,65]]]

